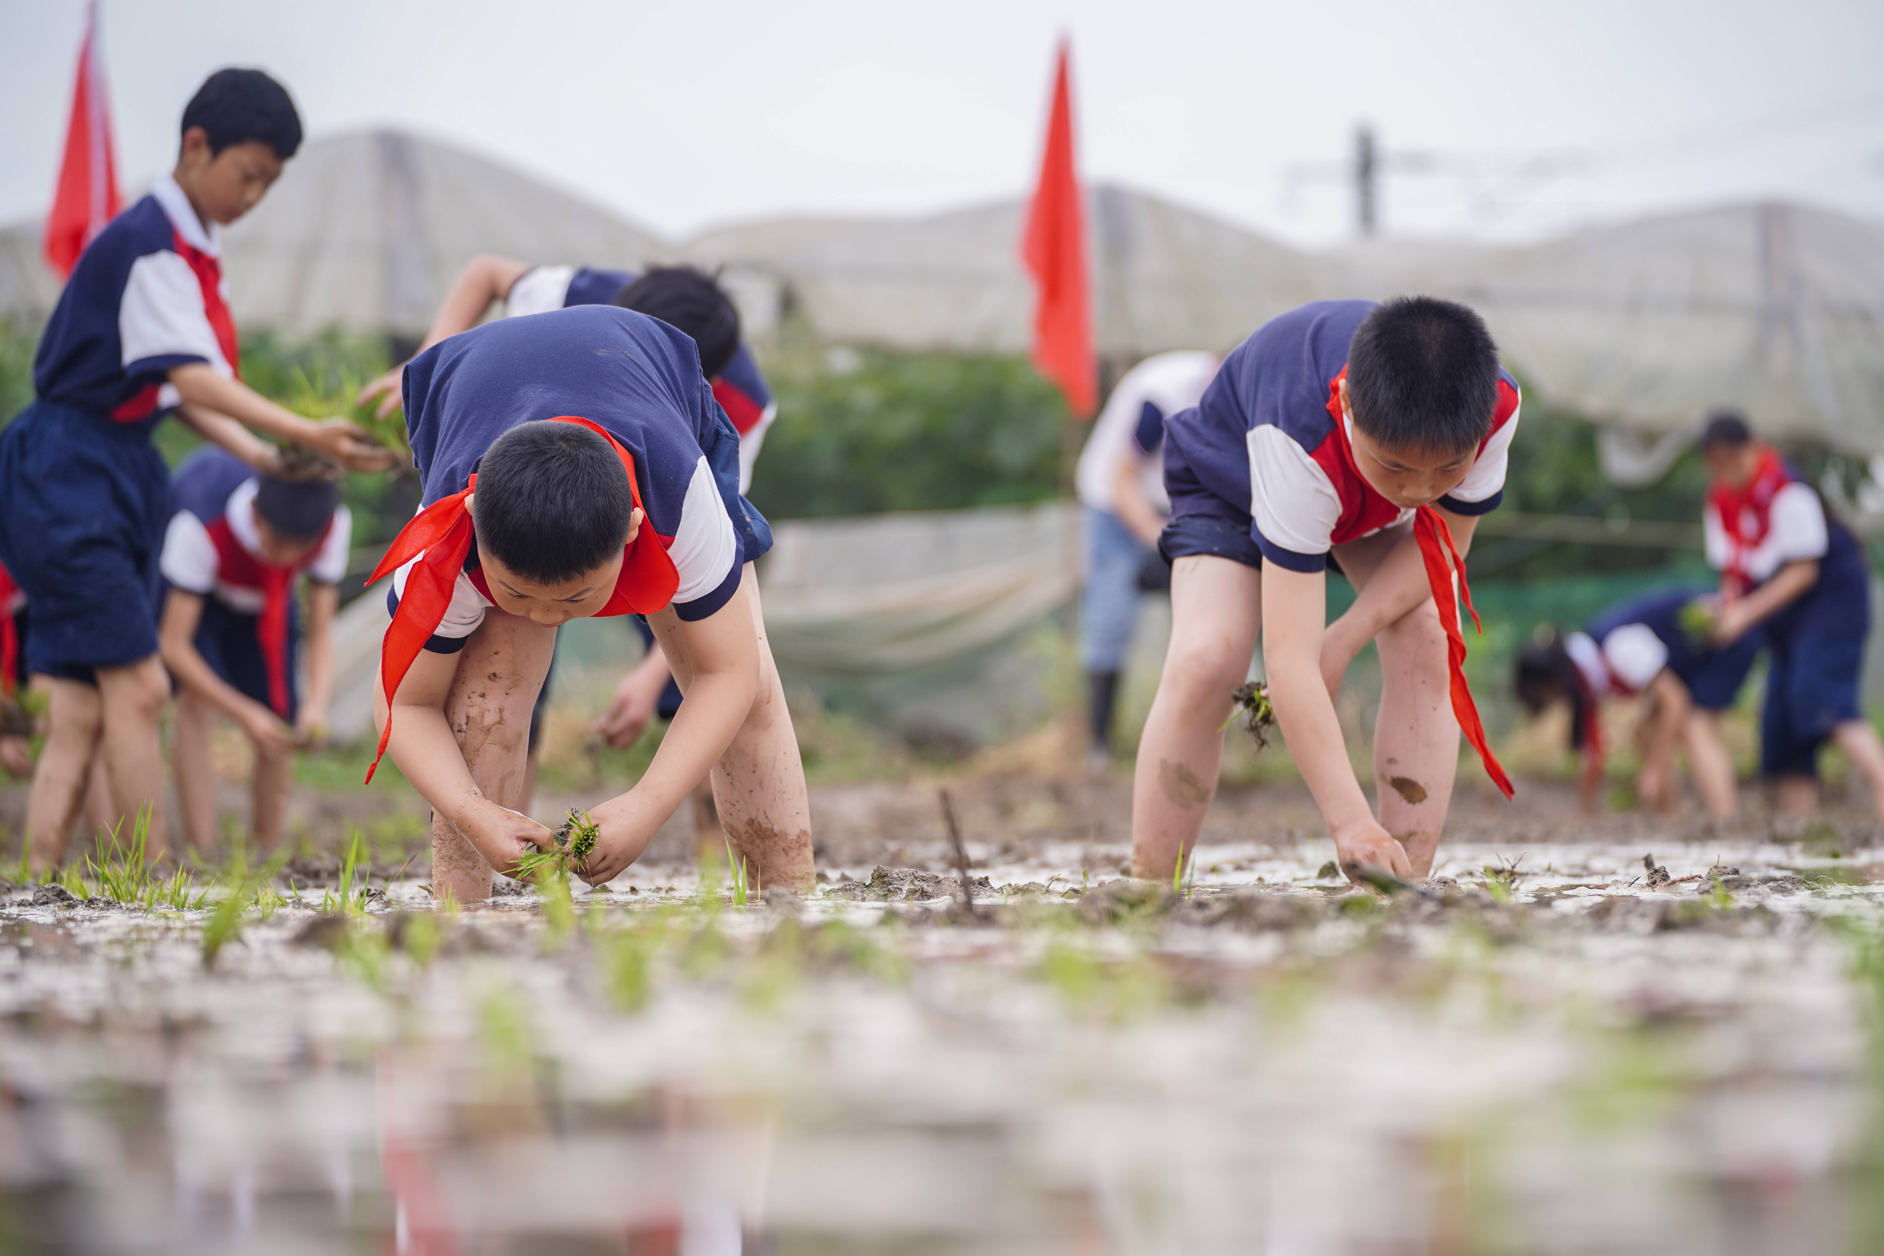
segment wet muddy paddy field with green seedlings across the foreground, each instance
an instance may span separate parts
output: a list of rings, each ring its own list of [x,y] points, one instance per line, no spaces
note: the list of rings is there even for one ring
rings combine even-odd
[[[1176,887],[1123,785],[948,789],[968,893],[936,783],[818,789],[804,898],[680,827],[458,911],[392,853],[0,887],[0,1250],[1884,1248],[1856,813],[1473,793],[1373,894],[1298,787]]]

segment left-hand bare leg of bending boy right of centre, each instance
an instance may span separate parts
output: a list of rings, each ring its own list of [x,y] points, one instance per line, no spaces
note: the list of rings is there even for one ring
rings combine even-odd
[[[1132,876],[1170,881],[1217,793],[1230,693],[1262,623],[1255,567],[1187,556],[1172,567],[1172,642],[1132,774]]]

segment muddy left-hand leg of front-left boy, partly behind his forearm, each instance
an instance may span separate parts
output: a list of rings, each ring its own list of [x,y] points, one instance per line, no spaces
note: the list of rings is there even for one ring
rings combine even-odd
[[[550,672],[556,629],[492,606],[458,653],[458,678],[445,719],[458,738],[471,781],[486,798],[522,808],[528,789],[529,712]],[[492,868],[450,821],[431,815],[431,893],[443,900],[490,898]]]

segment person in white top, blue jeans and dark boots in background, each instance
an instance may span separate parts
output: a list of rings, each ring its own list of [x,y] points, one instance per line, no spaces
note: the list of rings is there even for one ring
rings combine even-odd
[[[1217,373],[1217,354],[1176,350],[1125,373],[1080,454],[1074,488],[1085,507],[1085,601],[1080,663],[1091,702],[1091,757],[1112,766],[1112,719],[1125,652],[1138,627],[1145,588],[1170,588],[1159,533],[1170,516],[1164,495],[1164,418],[1189,411]]]

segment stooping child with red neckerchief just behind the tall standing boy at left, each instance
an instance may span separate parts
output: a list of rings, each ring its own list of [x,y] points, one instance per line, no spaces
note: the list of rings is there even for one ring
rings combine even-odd
[[[209,736],[228,716],[254,746],[251,832],[264,851],[281,842],[296,746],[318,742],[333,693],[333,612],[347,574],[352,516],[330,480],[258,476],[224,450],[177,467],[175,514],[164,533],[170,584],[162,618],[164,665],[177,682],[171,753],[183,829],[215,847],[215,772]],[[307,578],[305,650],[294,586]],[[298,663],[305,657],[307,695]]]

